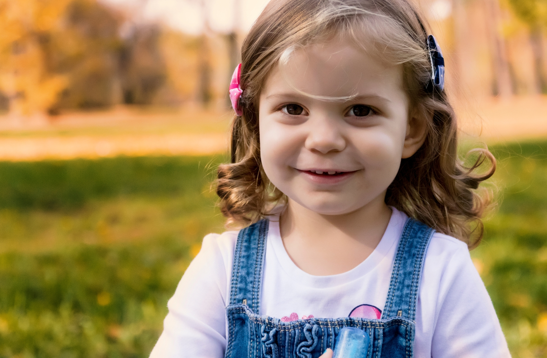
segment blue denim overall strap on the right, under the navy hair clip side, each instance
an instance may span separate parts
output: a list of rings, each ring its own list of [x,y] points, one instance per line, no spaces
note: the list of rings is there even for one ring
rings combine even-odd
[[[393,262],[382,319],[398,316],[414,321],[423,261],[433,233],[432,228],[419,221],[406,221]]]

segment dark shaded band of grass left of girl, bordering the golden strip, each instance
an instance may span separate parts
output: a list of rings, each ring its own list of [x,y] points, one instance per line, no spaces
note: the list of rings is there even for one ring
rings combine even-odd
[[[203,170],[212,160],[117,157],[3,162],[0,209],[73,210],[96,199],[117,196],[199,195],[205,179]]]

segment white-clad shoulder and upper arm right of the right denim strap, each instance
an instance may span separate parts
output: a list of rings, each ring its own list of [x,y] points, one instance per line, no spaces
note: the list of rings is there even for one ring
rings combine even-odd
[[[433,235],[419,300],[422,330],[431,342],[421,339],[417,346],[430,347],[431,356],[509,356],[490,296],[461,240]]]

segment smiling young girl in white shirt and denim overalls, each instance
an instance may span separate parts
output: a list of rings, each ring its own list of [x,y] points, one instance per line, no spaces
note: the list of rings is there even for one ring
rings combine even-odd
[[[444,60],[411,0],[272,0],[230,95],[210,234],[152,357],[508,357],[469,256],[494,172],[457,157]],[[473,174],[485,159],[483,175]]]

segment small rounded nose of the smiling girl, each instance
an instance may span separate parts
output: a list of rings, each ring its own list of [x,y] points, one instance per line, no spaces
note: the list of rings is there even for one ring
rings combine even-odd
[[[327,154],[331,151],[342,151],[346,148],[346,139],[342,136],[335,119],[327,116],[308,120],[309,132],[304,144],[310,151]]]

